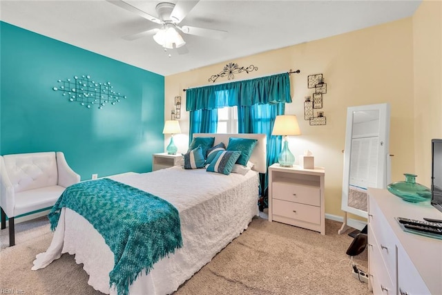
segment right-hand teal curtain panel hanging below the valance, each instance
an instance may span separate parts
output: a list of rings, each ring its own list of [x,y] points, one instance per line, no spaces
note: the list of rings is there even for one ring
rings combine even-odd
[[[267,135],[267,167],[278,162],[282,137],[271,135],[277,115],[284,115],[285,104],[253,104],[238,107],[238,133],[264,133]],[[260,173],[261,196],[267,196],[269,176]]]

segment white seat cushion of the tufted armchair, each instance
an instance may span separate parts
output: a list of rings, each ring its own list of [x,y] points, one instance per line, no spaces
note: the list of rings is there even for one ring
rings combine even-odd
[[[57,202],[59,196],[61,196],[61,193],[63,193],[64,190],[64,187],[52,185],[50,187],[30,189],[28,191],[15,193],[14,216],[52,207],[55,202]]]

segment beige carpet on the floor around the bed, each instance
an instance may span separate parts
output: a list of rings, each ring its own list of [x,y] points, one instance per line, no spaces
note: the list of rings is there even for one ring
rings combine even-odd
[[[326,220],[326,235],[254,218],[249,229],[233,240],[175,295],[194,294],[369,294],[366,283],[352,276],[345,254],[352,242],[338,235],[340,223]],[[0,288],[13,294],[101,294],[87,284],[82,265],[68,254],[38,271],[35,255],[52,239],[48,220],[38,218],[16,225],[16,244],[8,245],[1,230]],[[367,251],[354,258],[367,271]],[[3,292],[4,293],[4,292]]]

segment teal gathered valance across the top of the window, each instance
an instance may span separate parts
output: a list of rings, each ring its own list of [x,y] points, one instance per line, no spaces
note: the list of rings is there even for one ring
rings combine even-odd
[[[288,73],[186,91],[186,111],[291,102]]]

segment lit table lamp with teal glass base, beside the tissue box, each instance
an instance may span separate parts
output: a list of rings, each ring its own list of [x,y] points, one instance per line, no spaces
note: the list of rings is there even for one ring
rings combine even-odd
[[[283,135],[284,146],[281,153],[278,155],[278,163],[282,167],[292,167],[295,162],[295,156],[289,150],[289,142],[287,135],[300,135],[298,119],[296,115],[279,115],[276,116],[275,124],[271,135]]]

